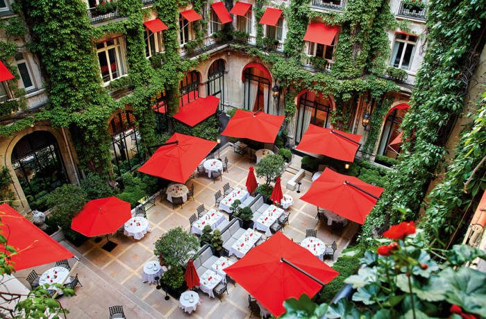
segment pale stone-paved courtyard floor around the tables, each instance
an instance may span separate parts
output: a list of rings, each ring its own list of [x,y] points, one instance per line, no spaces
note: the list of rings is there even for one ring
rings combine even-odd
[[[224,295],[221,302],[199,291],[201,305],[191,315],[187,315],[178,308],[178,300],[170,298],[164,300],[165,293],[156,290],[155,284],[142,282],[142,267],[146,261],[155,260],[153,255],[153,243],[167,230],[181,226],[189,230],[189,216],[194,214],[196,207],[203,203],[206,207],[214,207],[214,193],[222,189],[223,184],[229,182],[231,187],[244,187],[249,166],[252,165],[249,157],[233,153],[233,148],[227,147],[221,151],[221,158],[228,157],[228,172],[224,173],[223,181],[213,182],[209,178],[199,177],[189,180],[187,185],[194,182],[194,201],[188,200],[183,207],[172,209],[167,199],[157,199],[156,206],[147,212],[151,223],[152,232],[147,233],[140,241],[127,238],[123,235],[114,237],[112,241],[118,243],[112,252],[101,249],[106,243],[103,239],[95,243],[94,239],[85,242],[81,247],[74,248],[67,242],[62,242],[67,248],[80,258],[74,273],[78,273],[83,286],[76,288],[76,296],[61,297],[62,305],[69,309],[67,318],[109,318],[108,307],[122,305],[127,318],[250,318],[248,306],[248,293],[236,284],[228,284],[228,295]],[[294,156],[292,167],[300,167],[301,158]],[[316,229],[317,236],[324,243],[337,242],[338,248],[335,258],[340,255],[342,249],[348,245],[349,240],[358,229],[355,223],[349,223],[342,234],[331,234],[330,228],[324,223],[317,224],[315,215],[317,209],[306,202],[299,200],[310,187],[309,175],[301,180],[301,193],[285,189],[287,180],[292,178],[294,169],[287,169],[282,176],[283,192],[294,198],[294,205],[289,209],[290,223],[284,228],[284,234],[296,242],[305,237],[306,229]],[[259,180],[259,182],[261,182]],[[233,256],[232,259],[235,259]],[[236,259],[235,259],[236,260]],[[74,260],[69,261],[71,265]],[[331,265],[329,259],[326,264]],[[53,264],[47,264],[35,268],[37,273],[51,268]],[[31,269],[17,272],[17,277],[28,286],[25,280]]]

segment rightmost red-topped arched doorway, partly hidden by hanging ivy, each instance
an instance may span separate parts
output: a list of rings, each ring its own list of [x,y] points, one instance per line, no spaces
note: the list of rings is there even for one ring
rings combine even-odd
[[[378,155],[396,158],[401,150],[401,138],[399,131],[401,121],[408,111],[410,105],[402,103],[392,107],[385,119],[385,125],[381,131],[380,144],[378,146]],[[391,144],[391,145],[390,145]]]

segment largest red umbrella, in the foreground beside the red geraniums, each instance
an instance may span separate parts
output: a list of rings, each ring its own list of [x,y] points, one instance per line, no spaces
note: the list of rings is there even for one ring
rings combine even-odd
[[[285,300],[299,299],[303,293],[312,298],[323,284],[339,275],[282,232],[276,232],[224,271],[274,316],[284,313]]]

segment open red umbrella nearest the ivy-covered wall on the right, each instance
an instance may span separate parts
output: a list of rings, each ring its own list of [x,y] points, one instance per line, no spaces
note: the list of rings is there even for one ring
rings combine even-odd
[[[363,224],[382,192],[382,187],[325,169],[301,200]]]

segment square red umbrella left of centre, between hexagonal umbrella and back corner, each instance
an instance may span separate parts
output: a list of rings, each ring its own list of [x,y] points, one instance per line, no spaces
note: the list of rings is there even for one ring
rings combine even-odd
[[[174,133],[138,171],[185,183],[216,144],[216,141]]]

